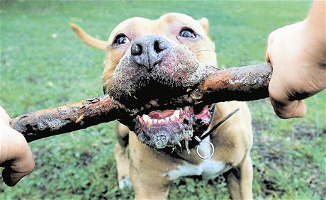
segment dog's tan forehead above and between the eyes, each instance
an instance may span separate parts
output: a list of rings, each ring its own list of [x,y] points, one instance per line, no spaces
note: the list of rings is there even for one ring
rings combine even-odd
[[[157,20],[140,17],[129,18],[113,29],[108,42],[112,42],[120,33],[133,37],[143,35],[162,35],[168,38],[173,35],[175,37],[181,28],[191,28],[199,35],[206,34],[201,24],[190,16],[181,13],[168,13]]]

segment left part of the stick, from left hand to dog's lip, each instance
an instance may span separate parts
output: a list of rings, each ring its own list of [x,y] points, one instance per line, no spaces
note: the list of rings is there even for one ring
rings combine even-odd
[[[11,119],[10,125],[31,142],[114,121],[125,115],[126,110],[117,101],[110,96],[101,96],[53,109],[26,113]]]

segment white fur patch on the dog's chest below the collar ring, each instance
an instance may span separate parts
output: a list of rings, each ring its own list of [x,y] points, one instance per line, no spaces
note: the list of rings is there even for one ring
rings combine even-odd
[[[201,150],[203,150],[205,155],[209,155],[210,153],[210,148],[201,148]],[[176,170],[167,172],[167,176],[170,180],[194,175],[202,176],[203,179],[215,179],[219,174],[227,172],[230,169],[230,165],[227,165],[225,162],[213,159],[203,160],[199,165],[193,165],[190,162],[184,161],[181,165],[176,166]]]

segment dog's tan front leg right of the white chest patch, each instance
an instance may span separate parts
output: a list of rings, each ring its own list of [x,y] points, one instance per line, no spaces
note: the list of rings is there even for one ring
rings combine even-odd
[[[236,169],[224,174],[232,199],[252,199],[252,159],[247,152],[245,160]]]

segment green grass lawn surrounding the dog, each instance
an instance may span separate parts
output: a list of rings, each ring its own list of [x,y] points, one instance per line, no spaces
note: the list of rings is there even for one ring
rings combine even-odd
[[[99,96],[104,53],[81,43],[68,22],[108,38],[125,18],[176,11],[205,16],[220,66],[264,61],[271,30],[305,18],[309,1],[1,1],[0,105],[11,116]],[[57,38],[52,38],[57,34]],[[302,119],[277,118],[268,100],[249,102],[254,123],[255,199],[326,199],[325,91]],[[31,143],[36,169],[0,199],[130,199],[118,189],[114,123]],[[222,178],[179,179],[170,199],[228,199]]]

